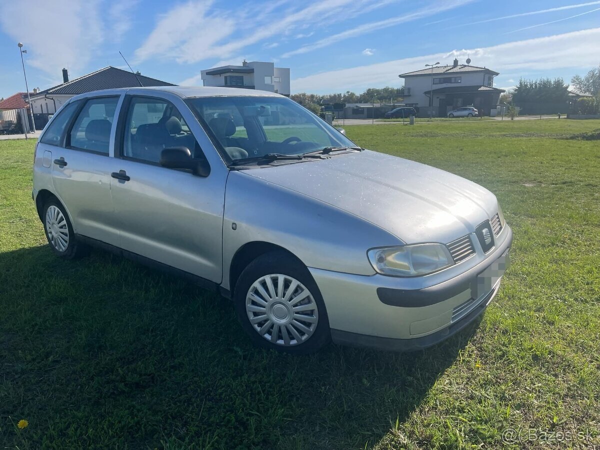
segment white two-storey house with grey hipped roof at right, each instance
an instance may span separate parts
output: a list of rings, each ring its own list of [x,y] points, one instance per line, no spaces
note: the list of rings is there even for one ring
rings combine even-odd
[[[404,79],[406,106],[418,107],[419,116],[427,117],[433,95],[433,116],[445,117],[449,111],[462,106],[474,106],[480,114],[489,116],[500,94],[505,92],[494,88],[497,75],[499,73],[488,68],[458,64],[458,59],[454,59],[452,65],[434,66],[433,74],[431,68],[424,68],[399,76]]]

